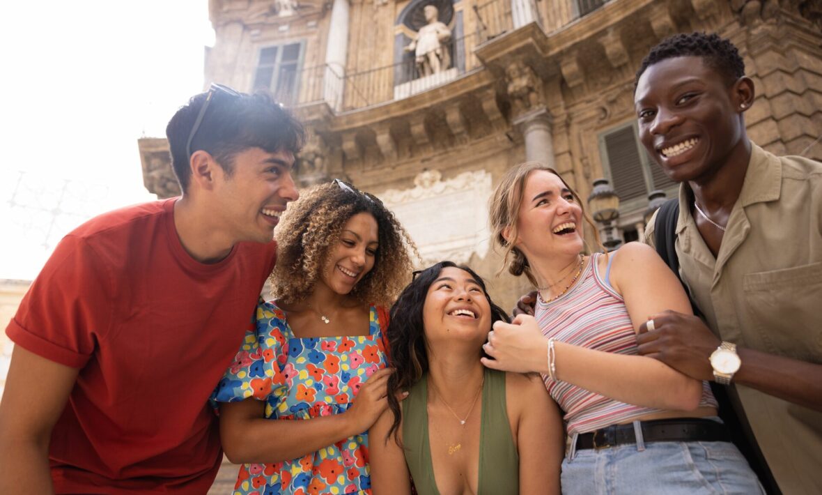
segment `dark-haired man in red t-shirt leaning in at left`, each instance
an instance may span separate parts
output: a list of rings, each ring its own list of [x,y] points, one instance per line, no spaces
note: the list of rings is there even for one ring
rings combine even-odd
[[[217,85],[166,134],[182,197],[68,234],[7,326],[0,493],[205,493],[215,478],[207,401],[274,266],[304,134],[270,97]]]

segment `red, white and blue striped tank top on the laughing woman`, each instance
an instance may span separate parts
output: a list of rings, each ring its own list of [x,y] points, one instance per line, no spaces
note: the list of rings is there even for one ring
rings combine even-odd
[[[616,255],[611,253],[607,272]],[[549,303],[538,298],[536,318],[543,335],[559,342],[615,354],[638,354],[636,333],[630,322],[625,300],[599,276],[595,269],[600,253],[594,253],[582,280],[560,298]],[[543,374],[543,381],[565,412],[569,435],[586,433],[616,423],[627,423],[645,414],[660,412],[631,405],[590,392],[567,382],[554,381]],[[708,382],[702,383],[701,406],[717,406]]]

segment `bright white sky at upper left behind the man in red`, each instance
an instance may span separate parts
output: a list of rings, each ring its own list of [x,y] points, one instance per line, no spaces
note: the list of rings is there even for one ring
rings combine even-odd
[[[0,279],[30,280],[55,235],[155,199],[137,139],[165,136],[202,90],[214,31],[208,0],[22,0],[2,16]]]

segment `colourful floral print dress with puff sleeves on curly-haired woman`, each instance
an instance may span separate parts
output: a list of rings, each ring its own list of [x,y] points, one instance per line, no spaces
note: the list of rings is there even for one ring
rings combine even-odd
[[[378,311],[369,335],[295,337],[285,313],[262,300],[234,362],[215,390],[217,402],[266,401],[268,419],[312,419],[351,407],[360,386],[386,367]],[[387,319],[387,318],[386,318]],[[371,493],[367,432],[273,464],[242,465],[236,495]]]

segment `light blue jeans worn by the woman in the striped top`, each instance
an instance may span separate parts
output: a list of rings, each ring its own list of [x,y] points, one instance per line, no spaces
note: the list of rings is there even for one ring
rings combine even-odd
[[[747,460],[731,442],[639,440],[636,444],[571,452],[562,461],[562,493],[765,493]]]

